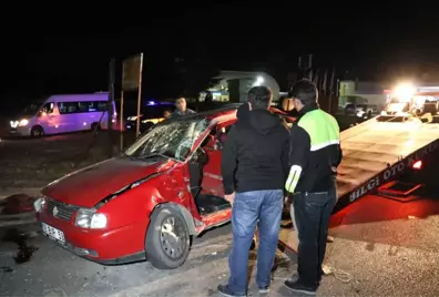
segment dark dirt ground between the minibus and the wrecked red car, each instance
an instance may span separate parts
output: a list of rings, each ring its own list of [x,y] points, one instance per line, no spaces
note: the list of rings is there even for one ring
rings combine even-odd
[[[119,153],[119,133],[113,133],[113,152]],[[125,145],[133,142],[125,134]],[[43,139],[0,140],[0,191],[42,187],[70,172],[108,158],[110,140],[101,131],[47,136]]]

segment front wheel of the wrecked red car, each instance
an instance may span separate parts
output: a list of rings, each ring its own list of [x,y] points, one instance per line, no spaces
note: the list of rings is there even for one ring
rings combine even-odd
[[[151,264],[159,269],[173,269],[187,258],[191,235],[182,214],[169,207],[154,211],[147,228],[145,249]]]

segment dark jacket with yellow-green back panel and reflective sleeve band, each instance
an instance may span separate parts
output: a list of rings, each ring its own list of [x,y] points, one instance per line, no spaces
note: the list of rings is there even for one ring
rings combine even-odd
[[[343,153],[339,127],[317,104],[305,106],[290,130],[289,166],[302,173],[294,192],[326,192],[334,187]]]

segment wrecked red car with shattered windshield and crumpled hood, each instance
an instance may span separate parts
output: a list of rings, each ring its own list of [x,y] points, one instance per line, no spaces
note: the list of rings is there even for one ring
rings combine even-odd
[[[237,107],[162,122],[121,156],[52,182],[34,203],[43,234],[101,264],[178,267],[192,236],[231,219],[221,154]]]

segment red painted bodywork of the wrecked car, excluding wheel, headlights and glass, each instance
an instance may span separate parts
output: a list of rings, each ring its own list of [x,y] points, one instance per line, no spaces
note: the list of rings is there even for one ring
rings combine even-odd
[[[236,110],[213,112],[206,117],[211,120],[210,127],[195,142],[192,153],[206,137],[212,137],[204,146],[208,163],[203,168],[202,188],[205,193],[223,197],[221,150],[214,147],[217,140],[210,133],[215,125],[222,129],[233,124],[237,120]],[[75,226],[76,213],[70,221],[54,217],[47,209],[39,212],[37,216],[40,222],[62,231],[72,252],[75,253],[75,248],[95,252],[95,255],[85,255],[90,259],[111,264],[132,255],[144,256],[150,216],[157,205],[171,204],[180,207],[187,215],[186,223],[193,225],[192,235],[231,219],[232,208],[205,216],[198,213],[190,191],[188,176],[187,161],[139,162],[127,157],[108,160],[69,174],[42,191],[44,196],[57,203],[78,208],[98,208],[96,213],[106,215],[105,228],[88,229]],[[112,196],[139,181],[142,182],[135,187]]]

